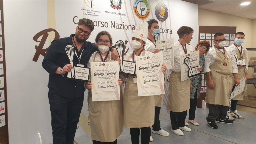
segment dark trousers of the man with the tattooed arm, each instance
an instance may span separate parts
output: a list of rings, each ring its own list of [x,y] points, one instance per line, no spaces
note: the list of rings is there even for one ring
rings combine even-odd
[[[208,121],[215,121],[216,118],[221,120],[226,119],[227,115],[227,106],[218,105],[218,104],[208,104],[209,114],[207,117]]]

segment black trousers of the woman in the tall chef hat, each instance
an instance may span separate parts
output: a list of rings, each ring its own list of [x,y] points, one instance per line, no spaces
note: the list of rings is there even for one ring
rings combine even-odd
[[[150,126],[144,127],[144,128],[130,128],[132,144],[140,143],[140,129],[141,129],[141,144],[149,144],[149,139],[151,135]]]

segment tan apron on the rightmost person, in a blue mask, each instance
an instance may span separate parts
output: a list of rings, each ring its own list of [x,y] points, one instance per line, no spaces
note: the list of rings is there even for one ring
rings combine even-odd
[[[237,58],[239,59],[239,60],[241,60],[240,59],[240,53],[239,53],[239,51],[238,51],[238,49],[236,48],[236,55],[237,55]],[[244,60],[246,60],[246,50],[243,50],[243,59]],[[247,61],[245,61],[245,63],[247,63]],[[245,72],[246,72],[247,70],[246,70],[246,68],[245,67],[241,67],[241,68],[238,68],[238,79],[239,80],[241,80],[241,79],[243,79],[244,77],[245,77]],[[245,93],[246,93],[246,89],[247,89],[247,87],[246,87],[246,81],[245,81],[245,86],[244,86],[244,90],[243,90],[243,92],[242,93],[240,93],[239,95],[237,95],[237,96],[235,96],[234,98],[233,98],[233,100],[242,100],[243,99],[243,96],[245,95]]]

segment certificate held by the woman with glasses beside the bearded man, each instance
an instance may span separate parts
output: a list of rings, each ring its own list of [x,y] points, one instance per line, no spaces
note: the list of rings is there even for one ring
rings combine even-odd
[[[92,101],[120,100],[118,62],[92,62]]]

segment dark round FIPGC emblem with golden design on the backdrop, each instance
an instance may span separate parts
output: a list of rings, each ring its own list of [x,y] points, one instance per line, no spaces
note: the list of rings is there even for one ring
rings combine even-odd
[[[163,2],[159,2],[155,6],[155,16],[160,22],[164,22],[167,20],[169,15],[168,8]]]

